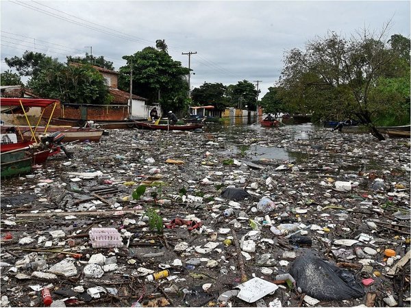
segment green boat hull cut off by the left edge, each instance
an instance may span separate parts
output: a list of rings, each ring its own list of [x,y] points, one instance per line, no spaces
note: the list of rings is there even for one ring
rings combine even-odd
[[[25,175],[32,171],[32,164],[33,157],[27,157],[24,150],[1,153],[0,176]]]

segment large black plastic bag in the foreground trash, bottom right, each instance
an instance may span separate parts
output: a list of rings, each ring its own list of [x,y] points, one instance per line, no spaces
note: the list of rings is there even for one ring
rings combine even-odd
[[[343,270],[312,254],[297,257],[289,273],[301,292],[318,300],[347,300],[364,296],[362,283]]]

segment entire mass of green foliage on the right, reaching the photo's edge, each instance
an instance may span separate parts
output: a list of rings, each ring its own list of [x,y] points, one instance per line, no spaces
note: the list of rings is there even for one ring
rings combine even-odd
[[[409,118],[410,40],[391,36],[389,46],[386,28],[378,36],[358,31],[349,40],[330,32],[305,50],[289,51],[275,95],[284,111],[313,113],[318,120],[393,117],[393,125],[403,123]]]

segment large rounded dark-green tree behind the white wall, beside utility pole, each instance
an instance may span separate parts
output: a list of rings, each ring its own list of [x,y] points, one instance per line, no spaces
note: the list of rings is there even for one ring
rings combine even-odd
[[[164,51],[146,47],[134,55],[125,55],[127,65],[120,68],[119,88],[129,91],[130,66],[132,66],[132,92],[159,102],[162,110],[188,110],[188,68]]]

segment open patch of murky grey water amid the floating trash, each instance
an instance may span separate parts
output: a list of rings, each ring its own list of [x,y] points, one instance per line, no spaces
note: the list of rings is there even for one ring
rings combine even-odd
[[[312,123],[301,125],[281,126],[279,131],[287,131],[291,140],[310,140],[310,133],[320,129]],[[231,118],[218,123],[209,123],[206,132],[221,135],[230,144],[229,152],[241,153],[243,157],[251,160],[259,159],[281,159],[281,160],[299,160],[306,155],[288,151],[277,145],[269,144],[251,144],[243,145],[244,141],[251,136],[259,133],[276,133],[278,129],[272,127],[262,127],[260,123],[253,118]],[[269,140],[268,140],[269,141]],[[221,152],[223,153],[223,152]],[[225,152],[224,152],[225,153]]]

